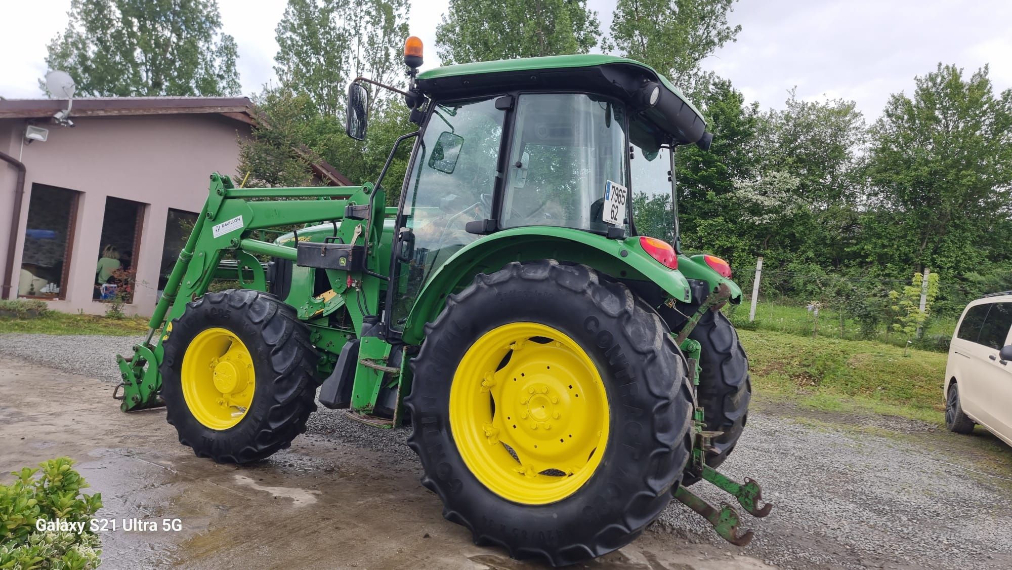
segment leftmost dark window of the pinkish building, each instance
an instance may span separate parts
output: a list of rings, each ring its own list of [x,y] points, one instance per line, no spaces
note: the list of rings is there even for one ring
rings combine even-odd
[[[66,299],[80,192],[32,184],[18,297]]]

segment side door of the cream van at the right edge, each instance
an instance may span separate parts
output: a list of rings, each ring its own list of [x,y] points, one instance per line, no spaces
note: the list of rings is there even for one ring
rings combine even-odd
[[[992,303],[978,339],[980,371],[976,380],[980,420],[1006,440],[1012,440],[1012,361],[999,351],[1010,342],[1012,302]]]

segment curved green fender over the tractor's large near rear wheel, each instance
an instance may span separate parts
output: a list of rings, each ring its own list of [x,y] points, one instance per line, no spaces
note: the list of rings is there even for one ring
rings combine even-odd
[[[692,300],[686,277],[651,257],[640,247],[639,237],[618,241],[571,228],[512,228],[472,242],[436,270],[408,315],[404,340],[420,344],[425,336],[425,324],[436,319],[446,296],[463,290],[478,273],[493,273],[512,261],[533,259],[582,263],[618,279],[652,281],[677,301],[689,303]],[[738,294],[740,296],[741,292]]]

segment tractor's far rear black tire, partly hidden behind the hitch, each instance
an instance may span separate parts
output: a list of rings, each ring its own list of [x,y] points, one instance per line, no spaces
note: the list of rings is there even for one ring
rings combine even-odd
[[[699,385],[696,398],[703,409],[706,429],[723,431],[706,453],[706,465],[716,469],[738,444],[749,416],[752,381],[749,360],[738,332],[724,313],[707,311],[689,338],[699,343]],[[682,485],[699,481],[701,474],[686,473]]]

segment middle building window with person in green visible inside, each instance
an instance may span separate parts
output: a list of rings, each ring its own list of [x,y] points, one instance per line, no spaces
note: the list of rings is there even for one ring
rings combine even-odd
[[[102,237],[95,264],[93,298],[134,302],[137,253],[141,245],[144,203],[118,197],[105,198]]]

